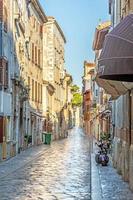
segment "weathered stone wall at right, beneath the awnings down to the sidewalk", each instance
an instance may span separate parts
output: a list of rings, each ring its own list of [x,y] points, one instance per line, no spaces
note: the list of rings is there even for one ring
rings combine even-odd
[[[113,163],[124,180],[129,180],[129,94],[116,101]]]

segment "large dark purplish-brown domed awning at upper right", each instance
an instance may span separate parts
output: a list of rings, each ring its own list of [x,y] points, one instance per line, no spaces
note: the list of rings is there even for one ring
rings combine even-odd
[[[133,14],[125,17],[106,35],[98,61],[98,76],[133,82]]]

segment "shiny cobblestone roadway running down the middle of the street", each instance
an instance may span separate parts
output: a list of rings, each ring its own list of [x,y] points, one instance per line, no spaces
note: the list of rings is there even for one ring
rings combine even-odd
[[[19,161],[16,170],[6,172],[0,178],[0,200],[90,200],[89,149],[87,136],[73,129],[67,139],[54,142],[43,153],[41,149],[22,168]]]

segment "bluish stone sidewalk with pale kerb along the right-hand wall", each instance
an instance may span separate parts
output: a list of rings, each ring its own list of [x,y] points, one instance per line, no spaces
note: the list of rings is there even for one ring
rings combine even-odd
[[[95,153],[91,155],[92,200],[133,200],[128,183],[122,180],[110,162],[102,167],[95,163]]]

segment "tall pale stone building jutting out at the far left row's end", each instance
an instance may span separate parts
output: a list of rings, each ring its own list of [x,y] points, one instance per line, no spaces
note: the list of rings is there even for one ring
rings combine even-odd
[[[47,44],[45,48],[47,58],[44,64],[45,94],[48,94],[49,83],[52,86],[52,95],[48,94],[49,102],[47,102],[45,112],[48,111],[49,118],[53,124],[53,139],[58,139],[64,135],[62,132],[62,123],[64,123],[62,109],[65,99],[63,81],[65,78],[64,45],[66,39],[59,24],[53,17],[48,17],[48,22],[44,29],[46,32],[44,42]]]

